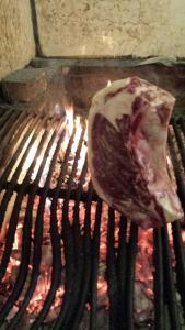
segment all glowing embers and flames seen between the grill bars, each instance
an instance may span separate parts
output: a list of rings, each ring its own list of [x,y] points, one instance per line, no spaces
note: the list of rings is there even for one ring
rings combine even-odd
[[[111,81],[108,81],[108,86]],[[60,147],[57,153],[55,167],[53,170],[53,175],[49,180],[48,191],[49,189],[58,191],[57,189],[66,189],[70,187],[70,193],[76,191],[77,200],[79,196],[83,193],[86,193],[90,187],[90,174],[88,172],[86,166],[86,128],[88,122],[82,121],[80,117],[74,117],[73,109],[68,108],[66,109],[67,112],[67,125],[61,127],[59,133],[65,130],[65,134],[62,141],[60,143]],[[37,180],[39,188],[46,187],[47,185],[47,177],[49,174],[50,164],[53,162],[53,157],[55,155],[55,151],[58,145],[59,134],[54,136],[55,128],[53,125],[48,127],[49,133],[46,140],[42,144],[42,148],[39,155],[37,155],[38,145],[42,143],[42,139],[44,135],[44,129],[39,131],[39,134],[36,141],[32,144],[28,150],[27,156],[24,162],[24,166],[22,167],[21,174],[19,176],[19,184],[22,184],[26,177],[27,172],[30,170],[33,162],[35,162],[33,170],[31,173],[31,182],[33,184]],[[24,145],[24,150],[22,154],[20,154],[16,164],[14,165],[9,180],[13,177],[14,172],[16,170],[16,165],[20,162],[22,155],[26,147],[28,147],[30,142],[32,140],[32,134],[28,136]],[[49,153],[46,153],[46,146],[50,140],[54,140],[51,148]],[[71,142],[70,142],[71,141]],[[69,145],[71,143],[71,147]],[[80,145],[80,147],[79,147]],[[69,155],[66,161],[66,154],[69,152]],[[45,154],[46,153],[46,154]],[[77,154],[79,155],[77,156]],[[43,158],[46,157],[45,166],[42,172],[41,178],[38,177],[39,167],[43,162]],[[172,169],[172,164],[170,157],[167,157],[167,164],[171,173],[171,177],[174,178],[174,173]],[[63,167],[62,167],[63,166]],[[63,169],[63,177],[60,178],[60,173]],[[71,179],[72,177],[72,179]],[[58,186],[60,184],[60,186]],[[79,188],[80,187],[80,188]],[[78,190],[79,189],[79,190]],[[78,190],[78,193],[77,193]],[[0,199],[3,200],[5,190],[1,193]],[[57,194],[57,193],[56,193]],[[78,195],[79,194],[79,195]],[[55,196],[55,195],[53,195]],[[47,314],[45,319],[46,322],[51,322],[55,320],[61,310],[61,306],[65,301],[66,295],[66,285],[67,285],[67,254],[66,254],[66,241],[65,241],[65,233],[67,231],[65,226],[69,226],[68,230],[72,232],[72,238],[74,235],[79,235],[79,242],[82,240],[82,246],[85,241],[85,233],[84,229],[86,228],[86,200],[79,201],[74,199],[70,199],[69,196],[66,195],[65,197],[60,197],[56,195],[56,222],[57,222],[57,230],[60,237],[60,250],[61,250],[61,274],[60,274],[60,283],[58,284],[54,301],[51,307]],[[12,198],[10,199],[7,212],[3,221],[3,226],[0,232],[0,261],[3,261],[4,257],[4,250],[7,243],[7,237],[9,233],[10,227],[10,218],[13,213],[13,209],[16,202],[18,193],[12,194]],[[65,216],[65,207],[66,207],[66,199],[68,200],[67,207],[67,221]],[[37,230],[37,218],[39,216],[39,205],[41,199],[38,195],[35,194],[33,209],[32,209],[32,231],[31,231],[31,255],[28,261],[28,271],[26,274],[26,282],[21,289],[21,294],[16,299],[13,308],[9,312],[7,320],[10,321],[19,311],[24,300],[24,297],[27,293],[32,280],[32,272],[34,268],[33,260],[34,260],[34,239],[35,239],[35,231]],[[23,249],[23,235],[25,231],[25,223],[27,221],[27,208],[30,202],[30,196],[25,195],[23,197],[20,212],[19,212],[19,220],[15,230],[12,252],[10,255],[10,262],[8,264],[5,274],[0,285],[0,308],[5,304],[8,297],[11,295],[12,290],[16,287],[16,280],[19,278],[20,267],[22,265],[22,251]],[[46,197],[44,202],[44,215],[43,215],[43,234],[42,234],[42,257],[39,264],[39,274],[37,277],[37,284],[34,289],[33,295],[31,295],[31,299],[26,306],[26,311],[24,312],[24,322],[32,323],[35,318],[39,315],[41,310],[44,307],[45,301],[47,300],[50,287],[51,287],[51,278],[53,278],[53,242],[51,242],[51,215],[53,213],[53,204],[55,202],[55,197]],[[78,205],[78,216],[77,216],[77,205]],[[94,241],[94,232],[96,230],[96,209],[97,202],[91,201],[91,223],[90,223],[90,239]],[[42,220],[41,220],[42,221]],[[66,224],[67,223],[67,224]],[[129,228],[127,229],[127,245],[129,240]],[[114,229],[114,249],[115,251],[118,250],[118,242],[119,242],[119,231],[120,231],[120,216],[115,212],[115,229]],[[172,243],[172,233],[169,227],[169,234],[170,234],[170,242]],[[99,250],[99,265],[97,265],[97,274],[96,274],[96,289],[97,289],[97,306],[96,309],[101,314],[102,310],[108,310],[111,301],[108,298],[108,284],[107,284],[107,235],[108,235],[108,207],[103,204],[103,209],[101,212],[101,223],[100,223],[100,243],[97,245]],[[71,237],[69,237],[70,239]],[[183,232],[183,240],[185,242],[185,234]],[[76,241],[76,239],[74,239]],[[77,243],[77,242],[76,242]],[[79,243],[80,244],[80,243]],[[92,242],[91,242],[92,244]],[[80,249],[79,245],[74,245],[74,250]],[[153,231],[152,230],[141,230],[139,229],[138,232],[138,252],[136,257],[136,266],[135,266],[135,321],[140,322],[148,322],[153,320]],[[70,251],[71,252],[71,251]],[[173,249],[172,249],[173,252]],[[76,253],[72,251],[71,253]],[[117,252],[116,252],[117,253]],[[83,255],[84,256],[84,255]],[[175,264],[174,253],[172,254],[173,265]],[[74,260],[74,264],[79,261]],[[78,270],[77,270],[78,271]],[[91,310],[91,301],[86,302],[86,310]],[[99,314],[97,312],[97,314]]]

